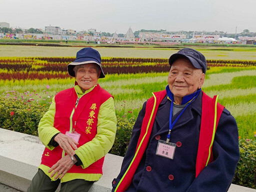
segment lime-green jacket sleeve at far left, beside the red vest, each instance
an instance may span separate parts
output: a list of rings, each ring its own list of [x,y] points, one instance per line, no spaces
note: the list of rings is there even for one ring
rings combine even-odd
[[[52,103],[48,111],[42,116],[40,122],[38,124],[38,136],[41,142],[47,147],[48,149],[52,150],[54,146],[50,144],[51,138],[59,133],[59,130],[54,128],[54,115],[55,115],[55,100],[54,97],[52,98]]]

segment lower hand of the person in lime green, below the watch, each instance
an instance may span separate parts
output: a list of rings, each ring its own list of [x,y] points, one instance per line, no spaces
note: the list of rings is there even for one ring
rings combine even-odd
[[[74,160],[76,161],[75,157],[73,156]],[[62,157],[60,160],[58,160],[55,164],[52,165],[52,167],[48,170],[48,173],[50,173],[52,170],[53,172],[50,174],[50,177],[54,176],[54,179],[57,179],[58,176],[61,174],[59,177],[62,178],[65,173],[73,166],[73,161],[70,158],[69,155],[65,155]]]

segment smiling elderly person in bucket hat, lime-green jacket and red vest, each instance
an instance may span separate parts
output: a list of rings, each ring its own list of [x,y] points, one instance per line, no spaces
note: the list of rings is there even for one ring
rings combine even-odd
[[[45,149],[27,191],[88,191],[102,175],[104,155],[115,137],[113,97],[97,84],[101,58],[82,48],[67,65],[75,86],[58,92],[38,125]]]

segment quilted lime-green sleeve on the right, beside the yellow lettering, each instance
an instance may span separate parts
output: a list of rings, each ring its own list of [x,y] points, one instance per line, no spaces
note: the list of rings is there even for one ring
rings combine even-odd
[[[99,107],[97,133],[95,137],[75,150],[82,161],[82,168],[102,158],[112,147],[116,132],[114,101],[110,97]]]

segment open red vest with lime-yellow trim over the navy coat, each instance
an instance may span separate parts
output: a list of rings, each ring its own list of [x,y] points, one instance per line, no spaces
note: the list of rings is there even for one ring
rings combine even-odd
[[[153,97],[150,97],[146,102],[145,115],[142,121],[141,131],[138,138],[136,152],[131,160],[128,169],[120,179],[115,188],[115,192],[122,192],[128,188],[132,181],[133,174],[135,173],[138,164],[143,156],[143,153],[148,144],[150,133],[153,127],[154,118],[157,112],[158,105],[166,95],[166,90],[155,92]],[[216,103],[216,96],[209,97],[202,91],[202,114],[201,126],[199,134],[199,143],[195,164],[195,176],[213,160],[212,156],[212,142],[218,124],[220,115],[224,106]],[[216,114],[215,114],[216,112]],[[215,119],[215,120],[214,120]],[[215,122],[215,123],[214,123]]]

